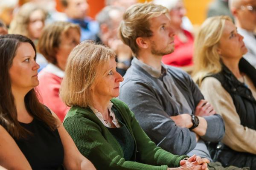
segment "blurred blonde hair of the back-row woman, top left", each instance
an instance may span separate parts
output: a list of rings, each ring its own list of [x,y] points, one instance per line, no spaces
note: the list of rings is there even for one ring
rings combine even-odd
[[[29,35],[28,25],[30,15],[36,10],[41,10],[43,12],[43,20],[45,20],[47,17],[47,12],[44,10],[44,8],[38,6],[38,4],[33,2],[25,3],[23,6],[20,7],[17,14],[15,14],[15,17],[10,24],[9,34],[20,34],[32,38]]]

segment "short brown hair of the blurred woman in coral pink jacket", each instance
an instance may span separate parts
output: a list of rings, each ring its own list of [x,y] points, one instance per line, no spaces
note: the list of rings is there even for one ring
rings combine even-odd
[[[80,27],[77,24],[58,21],[47,25],[38,41],[38,51],[52,64],[57,64],[56,49],[61,44],[61,34],[67,34],[70,28],[74,28],[80,33]]]

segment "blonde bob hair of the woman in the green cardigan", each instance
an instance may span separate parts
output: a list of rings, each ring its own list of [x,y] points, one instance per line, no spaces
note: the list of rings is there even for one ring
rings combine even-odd
[[[61,83],[60,97],[67,106],[92,105],[92,89],[105,74],[116,54],[110,48],[87,40],[71,51]]]

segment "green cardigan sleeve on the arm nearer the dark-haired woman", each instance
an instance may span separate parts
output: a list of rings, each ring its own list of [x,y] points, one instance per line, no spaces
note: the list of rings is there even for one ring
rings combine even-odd
[[[67,117],[64,121],[64,127],[72,137],[81,154],[94,164],[98,170],[166,170],[167,165],[153,166],[153,162],[146,161],[148,164],[142,164],[135,161],[125,161],[125,159],[113,149],[113,147],[102,136],[102,129],[95,122],[84,118],[82,114],[75,114]],[[136,124],[135,124],[136,125]],[[135,128],[138,125],[136,125]],[[143,134],[143,133],[141,133]],[[139,135],[139,133],[137,133]],[[143,134],[143,139],[145,136]],[[148,139],[149,140],[149,139]],[[150,143],[147,141],[147,143]],[[149,144],[147,144],[149,146]],[[152,144],[151,144],[152,145]],[[150,147],[151,147],[150,145]],[[151,147],[152,148],[152,147]],[[159,148],[154,149],[155,151]],[[154,151],[154,152],[155,152]],[[162,151],[163,152],[163,151]],[[157,151],[155,155],[160,152]],[[150,154],[148,152],[148,154]],[[143,154],[144,156],[145,153]],[[167,154],[168,155],[168,154]],[[148,155],[149,156],[149,155]],[[162,153],[163,156],[163,153]],[[150,156],[151,157],[151,156]],[[162,157],[158,156],[158,162]],[[172,158],[173,159],[173,158]]]

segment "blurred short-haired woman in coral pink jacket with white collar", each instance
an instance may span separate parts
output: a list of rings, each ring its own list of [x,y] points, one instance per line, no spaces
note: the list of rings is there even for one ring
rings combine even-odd
[[[67,57],[79,42],[79,26],[62,21],[46,26],[38,42],[40,53],[49,62],[38,74],[40,81],[38,93],[41,102],[56,113],[61,122],[69,108],[59,98],[59,89],[64,77]]]

